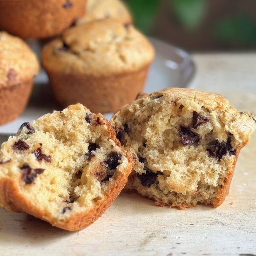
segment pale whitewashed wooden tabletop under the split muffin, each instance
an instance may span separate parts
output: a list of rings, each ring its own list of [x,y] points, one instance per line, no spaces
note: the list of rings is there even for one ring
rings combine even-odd
[[[196,54],[191,88],[217,92],[256,113],[256,54]],[[229,196],[217,209],[157,207],[121,194],[78,232],[0,209],[0,255],[256,255],[256,133],[239,156]]]

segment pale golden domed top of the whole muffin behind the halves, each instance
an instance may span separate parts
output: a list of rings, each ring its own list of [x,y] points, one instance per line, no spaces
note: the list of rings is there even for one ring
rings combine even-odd
[[[154,48],[145,36],[113,19],[72,27],[42,50],[47,71],[93,76],[134,72],[153,58]]]

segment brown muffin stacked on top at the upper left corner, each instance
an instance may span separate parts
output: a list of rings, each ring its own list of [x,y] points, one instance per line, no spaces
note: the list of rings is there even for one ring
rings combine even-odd
[[[61,34],[85,13],[86,0],[0,0],[0,30],[26,37]]]

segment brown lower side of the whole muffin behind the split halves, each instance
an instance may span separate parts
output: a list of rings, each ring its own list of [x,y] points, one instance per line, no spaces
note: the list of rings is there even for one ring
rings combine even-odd
[[[80,102],[94,113],[115,112],[135,100],[144,87],[148,66],[119,75],[94,77],[47,71],[56,100],[63,107]]]

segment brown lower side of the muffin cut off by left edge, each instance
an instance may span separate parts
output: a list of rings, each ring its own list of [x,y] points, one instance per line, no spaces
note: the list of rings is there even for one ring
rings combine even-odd
[[[0,88],[0,125],[14,120],[27,106],[33,86],[31,81]]]

